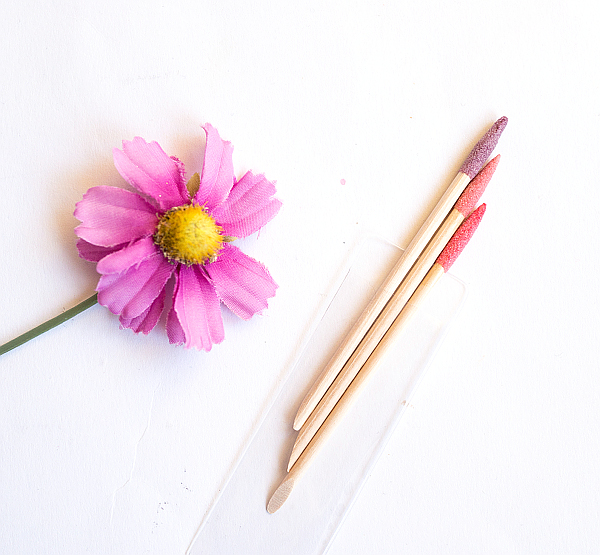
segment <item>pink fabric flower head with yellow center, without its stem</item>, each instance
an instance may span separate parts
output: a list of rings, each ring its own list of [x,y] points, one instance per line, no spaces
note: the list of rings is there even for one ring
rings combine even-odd
[[[183,163],[158,143],[123,141],[113,151],[115,166],[141,195],[92,187],[77,203],[75,233],[79,255],[101,274],[98,302],[123,327],[149,333],[172,291],[169,341],[210,351],[224,338],[221,302],[249,319],[275,295],[267,269],[231,241],[258,231],[281,202],[263,175],[236,181],[231,143],[209,124],[204,130],[202,175],[187,183]]]

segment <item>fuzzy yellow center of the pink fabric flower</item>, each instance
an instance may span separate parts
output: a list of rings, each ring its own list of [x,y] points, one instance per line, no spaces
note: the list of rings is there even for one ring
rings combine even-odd
[[[165,212],[154,242],[171,262],[205,264],[215,260],[223,242],[230,239],[222,231],[203,206],[186,204]]]

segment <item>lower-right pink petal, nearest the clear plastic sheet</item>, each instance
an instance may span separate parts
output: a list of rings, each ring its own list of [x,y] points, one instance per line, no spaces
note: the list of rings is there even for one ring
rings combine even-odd
[[[216,262],[206,265],[219,298],[235,314],[248,320],[267,308],[277,284],[257,260],[233,245],[224,245]]]

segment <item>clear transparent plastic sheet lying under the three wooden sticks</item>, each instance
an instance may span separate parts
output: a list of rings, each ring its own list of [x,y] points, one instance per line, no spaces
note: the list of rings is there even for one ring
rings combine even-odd
[[[377,239],[360,246],[300,359],[205,516],[189,555],[325,553],[465,296],[445,275],[375,370],[327,444],[274,514],[266,505],[284,478],[300,402],[400,257]]]

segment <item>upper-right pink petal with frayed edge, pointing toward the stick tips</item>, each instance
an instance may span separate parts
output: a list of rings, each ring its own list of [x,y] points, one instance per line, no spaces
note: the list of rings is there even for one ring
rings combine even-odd
[[[247,237],[269,222],[281,208],[272,198],[275,184],[264,175],[246,172],[235,183],[227,200],[212,212],[213,218],[232,237]]]

